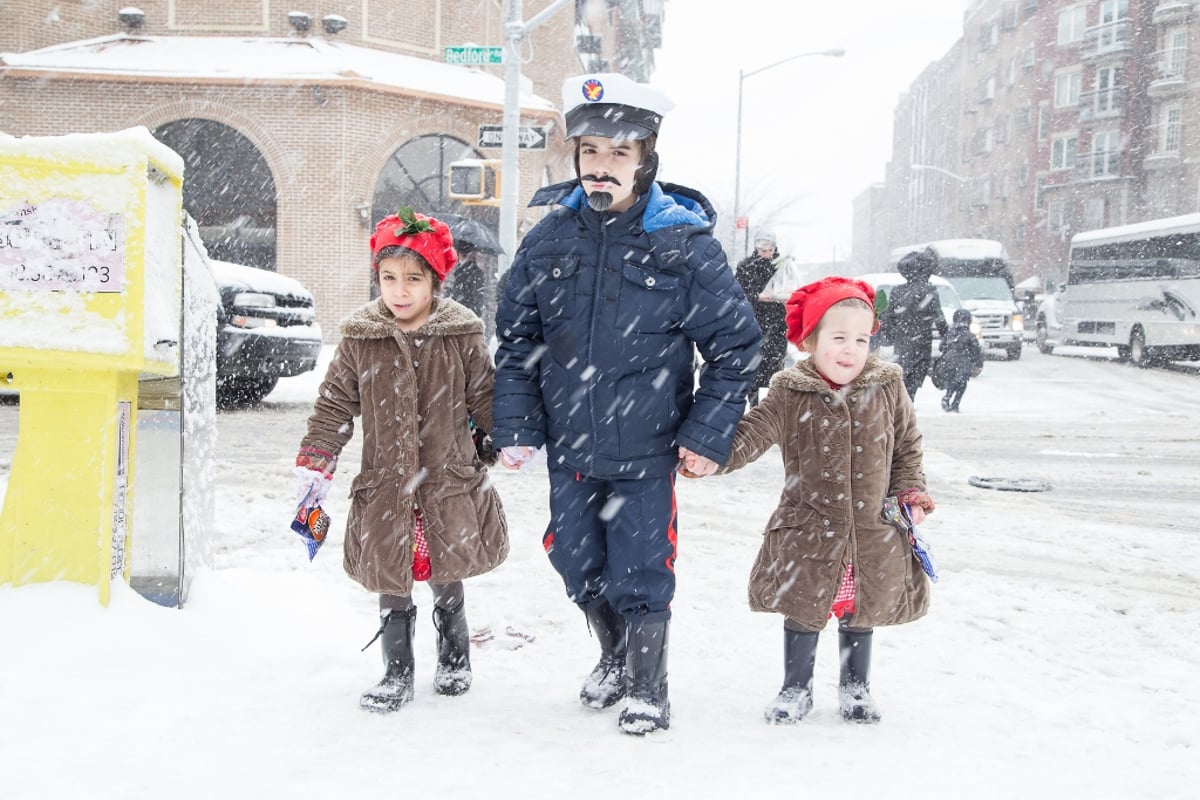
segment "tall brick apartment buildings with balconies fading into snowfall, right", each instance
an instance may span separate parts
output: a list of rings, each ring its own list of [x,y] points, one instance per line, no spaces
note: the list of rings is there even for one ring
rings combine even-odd
[[[971,4],[896,108],[890,243],[996,239],[1061,282],[1072,235],[1200,210],[1198,6]]]

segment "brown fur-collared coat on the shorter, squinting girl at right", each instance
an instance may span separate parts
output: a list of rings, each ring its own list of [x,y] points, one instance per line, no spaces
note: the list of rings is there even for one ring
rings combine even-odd
[[[929,581],[883,498],[925,491],[920,432],[900,368],[871,356],[833,390],[810,361],[775,374],[743,417],[722,471],[779,445],[787,480],[750,573],[750,607],[820,631],[847,563],[854,565],[852,627],[898,625],[929,608]]]

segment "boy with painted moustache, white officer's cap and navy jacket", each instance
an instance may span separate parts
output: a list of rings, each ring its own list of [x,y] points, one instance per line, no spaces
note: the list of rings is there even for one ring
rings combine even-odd
[[[655,182],[671,107],[620,74],[563,84],[578,179],[534,194],[558,207],[517,249],[496,324],[500,463],[547,450],[542,545],[600,643],[580,699],[624,698],[630,734],[671,722],[676,469],[709,474],[728,456],[761,338],[713,206]]]

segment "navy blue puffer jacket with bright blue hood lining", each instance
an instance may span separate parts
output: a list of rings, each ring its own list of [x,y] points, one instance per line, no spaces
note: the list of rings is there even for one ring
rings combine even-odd
[[[724,463],[761,332],[708,200],[654,184],[601,213],[570,181],[530,205],[551,203],[496,312],[494,445],[545,445],[551,464],[600,479],[670,473],[679,446]]]

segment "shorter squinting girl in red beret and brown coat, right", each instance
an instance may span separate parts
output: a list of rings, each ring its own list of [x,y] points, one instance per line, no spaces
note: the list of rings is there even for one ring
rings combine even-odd
[[[778,445],[787,479],[750,573],[750,607],[784,615],[784,687],[767,721],[794,723],[812,709],[817,636],[838,618],[841,716],[878,722],[869,672],[871,633],[925,614],[929,579],[882,516],[884,499],[914,524],[925,494],[920,432],[900,368],[870,351],[875,290],[822,278],[787,301],[787,338],[809,357],[775,374],[738,425],[722,471]]]

